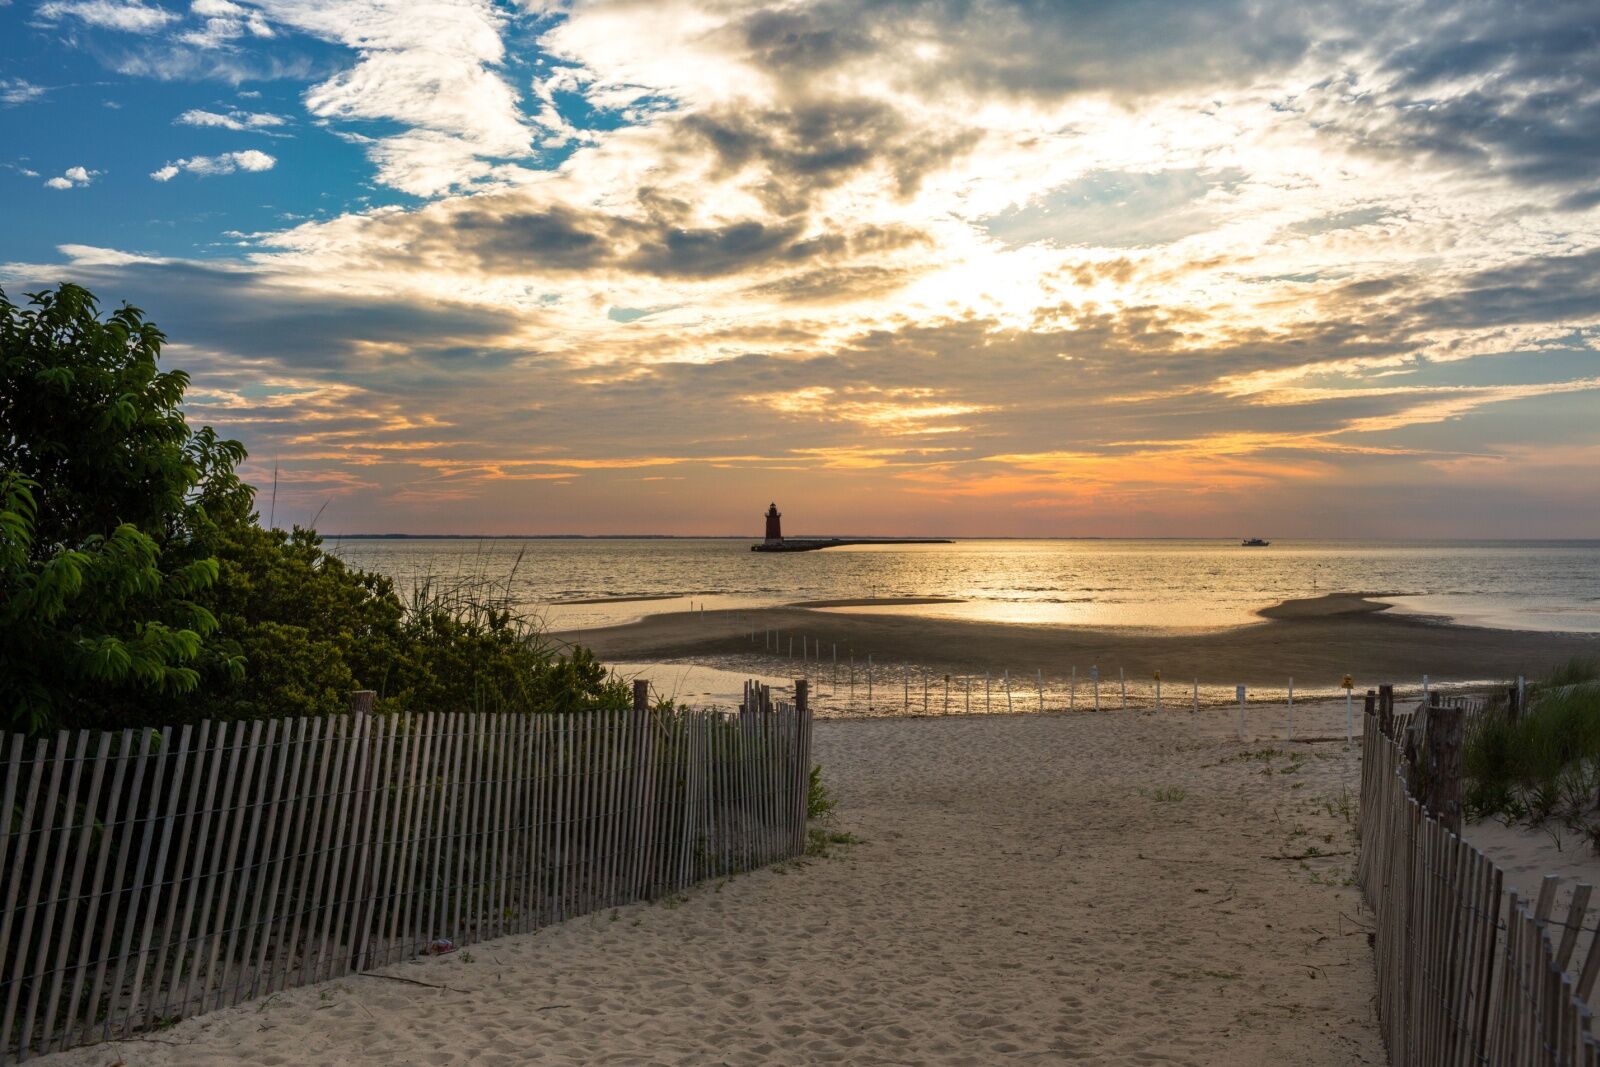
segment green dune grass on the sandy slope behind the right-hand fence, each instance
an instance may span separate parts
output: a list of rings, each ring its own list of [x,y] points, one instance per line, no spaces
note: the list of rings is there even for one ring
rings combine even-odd
[[[1462,745],[1469,817],[1558,819],[1600,841],[1600,661],[1574,659],[1528,688],[1515,720],[1499,697]]]

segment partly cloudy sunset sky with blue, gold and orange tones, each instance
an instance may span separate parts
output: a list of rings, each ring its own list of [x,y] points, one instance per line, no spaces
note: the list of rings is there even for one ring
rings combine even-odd
[[[1595,131],[1592,0],[0,0],[0,288],[325,533],[1597,537]]]

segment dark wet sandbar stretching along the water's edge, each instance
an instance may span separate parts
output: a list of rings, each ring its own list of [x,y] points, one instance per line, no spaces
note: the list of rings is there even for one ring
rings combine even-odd
[[[872,603],[872,601],[861,601]],[[890,601],[877,601],[890,603]],[[1395,614],[1355,593],[1294,600],[1269,608],[1256,624],[1230,629],[1154,630],[1118,627],[1024,625],[930,619],[870,611],[816,611],[800,606],[754,611],[670,613],[630,625],[557,633],[594,649],[602,661],[738,661],[750,669],[763,657],[750,630],[779,630],[842,657],[912,662],[938,670],[978,672],[1008,665],[1062,677],[1098,664],[1107,677],[1162,670],[1170,678],[1202,685],[1282,685],[1293,675],[1334,685],[1346,672],[1360,685],[1406,681],[1427,673],[1438,681],[1477,681],[1517,673],[1534,675],[1573,656],[1600,654],[1600,635],[1536,633],[1451,625]],[[771,656],[773,670],[784,670]]]

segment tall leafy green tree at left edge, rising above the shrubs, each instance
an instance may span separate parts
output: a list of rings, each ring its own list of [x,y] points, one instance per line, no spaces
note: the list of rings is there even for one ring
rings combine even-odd
[[[104,721],[194,691],[218,576],[208,507],[246,509],[245,454],[178,405],[182,371],[136,307],[75,285],[0,291],[0,721]],[[240,664],[214,667],[237,673]]]

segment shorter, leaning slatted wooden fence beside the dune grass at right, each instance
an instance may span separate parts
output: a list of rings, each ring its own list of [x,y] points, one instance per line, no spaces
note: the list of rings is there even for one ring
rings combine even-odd
[[[1392,736],[1371,718],[1363,733],[1357,878],[1378,917],[1373,957],[1389,1062],[1600,1067],[1587,1006],[1600,976],[1590,886],[1576,886],[1560,921],[1554,875],[1531,909],[1507,891],[1504,872],[1406,789],[1397,737],[1413,718],[1382,721]],[[1579,941],[1587,945],[1574,981]]]

